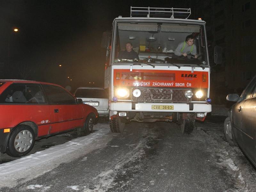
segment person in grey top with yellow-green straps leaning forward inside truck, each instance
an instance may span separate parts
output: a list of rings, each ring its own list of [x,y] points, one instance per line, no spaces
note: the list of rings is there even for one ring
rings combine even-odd
[[[194,36],[188,35],[186,41],[179,43],[178,47],[175,49],[175,55],[187,57],[188,54],[194,55],[197,58],[196,46],[194,45]]]

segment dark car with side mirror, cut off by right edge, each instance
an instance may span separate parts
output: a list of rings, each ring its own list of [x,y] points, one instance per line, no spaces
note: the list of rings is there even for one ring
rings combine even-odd
[[[229,144],[238,144],[256,166],[256,76],[241,96],[228,94],[227,100],[236,103],[228,111],[224,135]]]

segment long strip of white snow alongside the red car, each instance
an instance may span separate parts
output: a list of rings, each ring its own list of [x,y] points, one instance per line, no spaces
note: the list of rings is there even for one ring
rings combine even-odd
[[[109,124],[102,123],[98,125],[95,134],[92,133],[84,137],[79,137],[61,145],[38,151],[29,156],[0,164],[0,188],[13,187],[17,185],[17,180],[20,178],[24,178],[24,181],[26,181],[49,172],[59,164],[70,161],[70,159],[72,159],[71,156],[73,158],[81,156],[81,149],[86,154],[84,148],[89,148],[88,150],[98,148],[97,146],[91,146],[92,142],[99,140],[108,133]],[[106,137],[107,140],[111,138],[112,135]],[[24,164],[26,164],[26,166],[21,166]]]

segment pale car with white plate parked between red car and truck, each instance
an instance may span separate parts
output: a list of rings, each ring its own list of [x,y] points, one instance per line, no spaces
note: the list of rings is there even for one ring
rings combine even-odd
[[[75,97],[96,108],[100,117],[109,116],[108,93],[103,88],[79,87],[76,89]]]

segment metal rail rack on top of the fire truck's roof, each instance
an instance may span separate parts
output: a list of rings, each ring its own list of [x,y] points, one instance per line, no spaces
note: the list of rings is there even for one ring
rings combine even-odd
[[[156,7],[132,7],[130,17],[158,17],[174,19],[188,19],[191,10],[183,8],[156,8]]]

